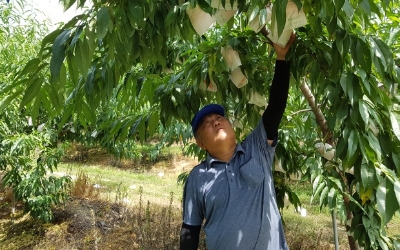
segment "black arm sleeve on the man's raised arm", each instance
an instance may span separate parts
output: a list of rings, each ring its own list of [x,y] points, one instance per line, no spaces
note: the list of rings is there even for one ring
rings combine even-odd
[[[278,136],[278,127],[285,112],[289,93],[289,80],[289,62],[277,60],[275,63],[274,79],[269,91],[268,106],[262,116],[268,140],[275,140]]]

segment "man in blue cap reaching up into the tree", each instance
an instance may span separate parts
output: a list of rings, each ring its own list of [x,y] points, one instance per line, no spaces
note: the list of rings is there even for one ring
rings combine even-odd
[[[276,63],[268,106],[258,126],[241,142],[224,109],[210,104],[191,125],[206,161],[190,172],[183,197],[181,250],[197,249],[204,221],[206,245],[214,249],[288,249],[272,179],[272,162],[289,90],[286,47],[274,44]]]

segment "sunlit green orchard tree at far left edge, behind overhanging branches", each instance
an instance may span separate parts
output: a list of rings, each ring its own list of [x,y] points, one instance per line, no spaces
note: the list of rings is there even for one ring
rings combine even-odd
[[[24,201],[26,212],[50,221],[51,206],[64,201],[70,182],[69,177],[49,175],[57,167],[63,149],[49,147],[57,143],[57,131],[44,113],[33,121],[30,110],[20,105],[25,102],[23,89],[12,87],[15,76],[40,49],[48,29],[31,13],[23,12],[22,2],[15,6],[1,2],[0,13],[0,106],[4,107],[0,111],[1,181],[12,188],[15,200]],[[40,75],[20,84],[38,81]]]

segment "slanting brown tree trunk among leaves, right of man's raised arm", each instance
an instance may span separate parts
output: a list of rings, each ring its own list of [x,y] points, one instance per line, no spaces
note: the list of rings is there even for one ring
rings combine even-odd
[[[326,120],[325,120],[325,116],[322,113],[321,109],[318,107],[317,103],[315,102],[315,97],[314,97],[313,93],[311,92],[311,89],[308,87],[308,85],[305,81],[303,81],[300,84],[300,89],[301,89],[301,92],[303,93],[304,97],[306,98],[308,105],[310,105],[312,112],[315,115],[315,119],[317,121],[318,126],[321,128],[322,135],[325,139],[325,142],[334,147],[335,141],[333,139],[332,131],[329,130],[328,124],[326,123]],[[349,185],[347,184],[348,183],[347,178],[343,171],[340,171],[340,170],[338,170],[338,171],[339,171],[340,176],[343,179],[343,182],[345,183],[345,186],[346,186],[345,192],[348,195],[350,195],[351,190],[349,190]],[[350,198],[348,196],[344,195],[343,200],[344,200],[344,204],[346,206],[347,221],[350,221],[353,218],[353,213],[349,209]],[[346,223],[346,232],[349,232],[349,231],[350,231],[350,226],[347,225],[347,223]],[[359,249],[359,246],[358,246],[357,242],[354,240],[353,236],[348,234],[347,239],[349,241],[349,247],[351,250]]]

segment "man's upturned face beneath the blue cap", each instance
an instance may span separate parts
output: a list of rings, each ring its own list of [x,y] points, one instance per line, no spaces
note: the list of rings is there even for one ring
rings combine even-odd
[[[212,151],[213,147],[221,147],[226,143],[236,143],[235,131],[231,123],[218,114],[206,115],[196,134],[196,143],[206,151]]]

